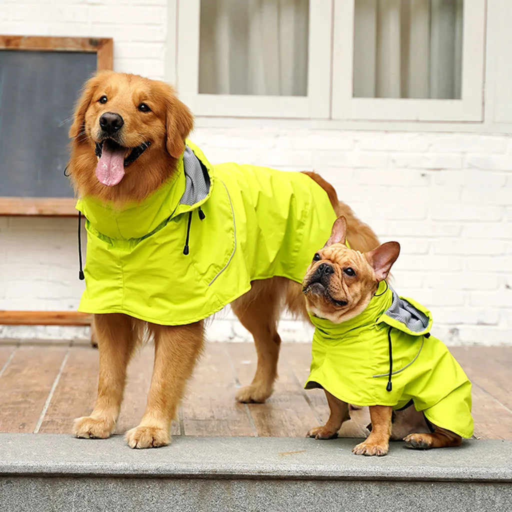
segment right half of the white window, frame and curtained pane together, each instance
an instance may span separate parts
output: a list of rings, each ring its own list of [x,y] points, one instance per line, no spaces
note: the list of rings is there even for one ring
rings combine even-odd
[[[334,8],[334,119],[482,121],[484,0]]]

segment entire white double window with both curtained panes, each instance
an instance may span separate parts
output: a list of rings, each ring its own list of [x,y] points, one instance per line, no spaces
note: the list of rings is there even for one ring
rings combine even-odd
[[[481,121],[485,0],[178,2],[200,116]]]

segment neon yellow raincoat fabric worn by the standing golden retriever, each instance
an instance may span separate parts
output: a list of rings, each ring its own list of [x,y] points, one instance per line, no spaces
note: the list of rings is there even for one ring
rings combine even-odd
[[[336,219],[322,187],[301,173],[210,165],[198,147],[187,145],[209,175],[202,201],[180,204],[183,159],[173,180],[140,204],[119,210],[90,197],[78,201],[87,219],[79,311],[184,325],[219,311],[248,291],[252,280],[285,276],[302,282]]]

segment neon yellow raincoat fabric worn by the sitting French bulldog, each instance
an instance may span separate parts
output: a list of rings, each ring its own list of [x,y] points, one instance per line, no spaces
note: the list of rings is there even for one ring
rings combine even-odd
[[[383,289],[381,283],[378,293]],[[471,382],[441,340],[424,336],[432,325],[430,311],[410,298],[404,300],[428,317],[421,332],[412,332],[386,314],[393,301],[391,289],[374,296],[365,311],[341,324],[310,315],[315,332],[305,388],[322,387],[359,406],[400,409],[413,400],[416,410],[435,425],[471,437]],[[390,327],[397,373],[387,391]]]

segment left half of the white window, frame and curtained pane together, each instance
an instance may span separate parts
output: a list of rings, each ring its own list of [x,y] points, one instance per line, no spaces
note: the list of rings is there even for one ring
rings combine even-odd
[[[186,0],[177,84],[200,115],[328,118],[331,0]]]

